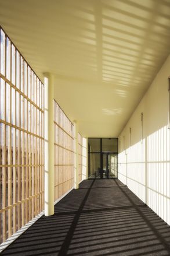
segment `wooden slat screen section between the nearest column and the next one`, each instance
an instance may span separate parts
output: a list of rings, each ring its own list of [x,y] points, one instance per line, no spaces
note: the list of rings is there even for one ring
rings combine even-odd
[[[54,100],[55,201],[74,186],[74,125]]]

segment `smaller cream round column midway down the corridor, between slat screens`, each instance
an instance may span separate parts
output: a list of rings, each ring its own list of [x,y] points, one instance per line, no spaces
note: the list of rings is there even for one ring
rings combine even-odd
[[[74,121],[74,188],[78,187],[78,121]]]

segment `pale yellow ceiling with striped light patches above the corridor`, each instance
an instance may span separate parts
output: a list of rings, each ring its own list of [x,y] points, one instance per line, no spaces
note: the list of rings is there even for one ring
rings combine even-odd
[[[170,52],[170,0],[0,0],[0,24],[84,136],[118,136]]]

